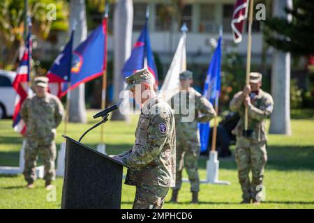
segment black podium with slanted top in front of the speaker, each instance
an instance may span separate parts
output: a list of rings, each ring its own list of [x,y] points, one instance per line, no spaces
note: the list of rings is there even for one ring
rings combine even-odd
[[[110,208],[121,205],[126,165],[70,137],[66,139],[61,208]]]

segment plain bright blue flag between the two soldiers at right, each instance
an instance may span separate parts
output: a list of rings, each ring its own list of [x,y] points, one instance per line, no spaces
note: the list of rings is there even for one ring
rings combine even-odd
[[[221,61],[221,39],[218,40],[218,45],[211,58],[207,76],[204,83],[203,96],[207,98],[215,107],[218,105],[220,95],[220,61]],[[198,123],[200,130],[201,151],[206,151],[209,139],[209,123]]]

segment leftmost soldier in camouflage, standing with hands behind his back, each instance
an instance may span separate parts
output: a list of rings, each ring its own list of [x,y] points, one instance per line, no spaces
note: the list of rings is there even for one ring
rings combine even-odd
[[[27,98],[22,104],[21,116],[27,125],[27,143],[24,151],[24,178],[27,187],[33,188],[36,180],[36,158],[40,153],[45,166],[45,187],[50,190],[55,179],[56,128],[62,121],[63,106],[56,96],[47,92],[47,77],[36,77],[36,95]]]

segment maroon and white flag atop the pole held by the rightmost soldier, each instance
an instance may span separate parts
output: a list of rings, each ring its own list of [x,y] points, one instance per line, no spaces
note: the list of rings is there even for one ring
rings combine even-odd
[[[234,11],[231,21],[234,43],[240,43],[242,41],[244,21],[247,17],[248,0],[237,0],[236,4],[234,5]]]

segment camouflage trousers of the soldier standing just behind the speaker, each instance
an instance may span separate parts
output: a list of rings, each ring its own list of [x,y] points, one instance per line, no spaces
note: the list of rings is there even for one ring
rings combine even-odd
[[[180,190],[182,183],[182,170],[186,169],[190,180],[190,192],[200,190],[200,176],[198,174],[198,158],[200,145],[197,141],[177,141],[176,143],[176,185],[173,190]]]

